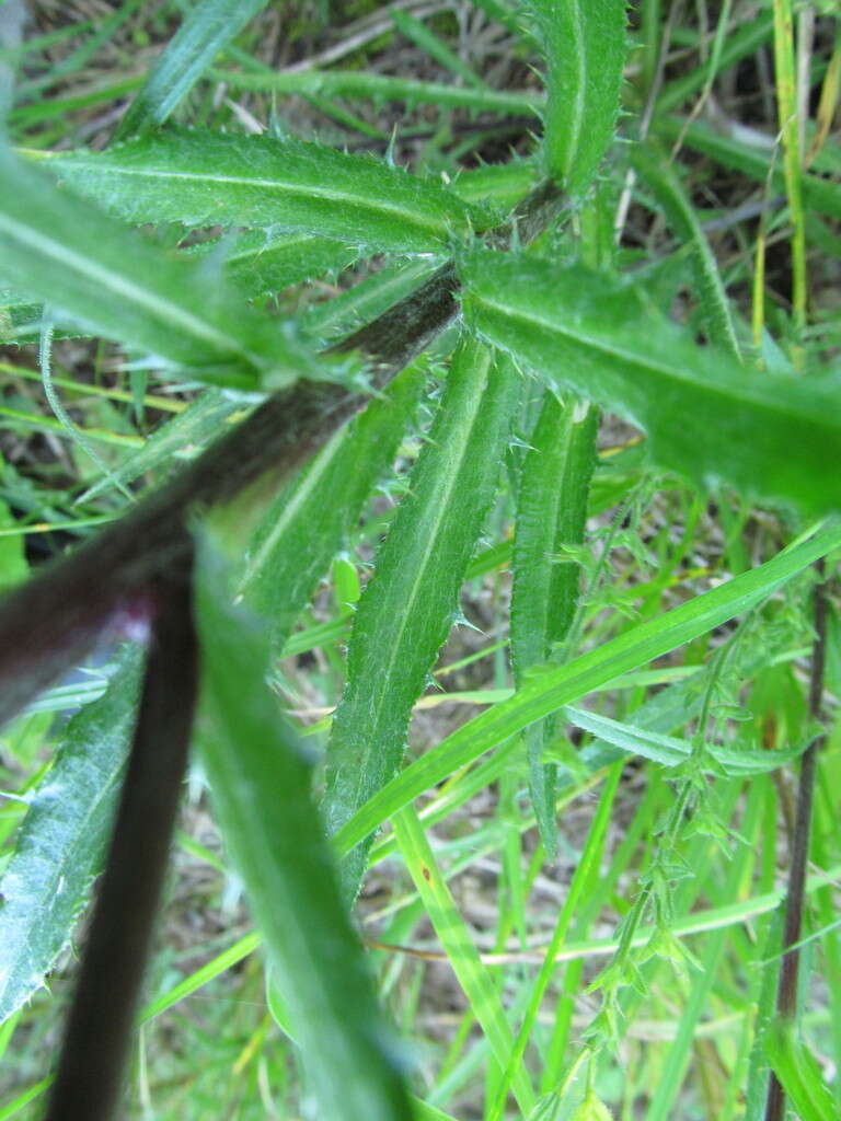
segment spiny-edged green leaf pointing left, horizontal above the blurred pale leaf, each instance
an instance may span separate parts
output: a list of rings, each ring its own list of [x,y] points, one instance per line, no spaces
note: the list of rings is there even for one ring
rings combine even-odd
[[[131,222],[265,226],[426,253],[489,221],[432,179],[269,136],[173,129],[40,158],[64,185]]]

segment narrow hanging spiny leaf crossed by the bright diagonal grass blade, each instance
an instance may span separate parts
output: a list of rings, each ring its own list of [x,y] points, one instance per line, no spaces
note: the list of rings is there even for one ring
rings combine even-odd
[[[511,663],[519,687],[529,669],[555,660],[575,615],[580,565],[565,546],[580,545],[595,466],[598,414],[586,401],[562,404],[547,390],[520,472],[514,538]],[[552,717],[526,732],[529,784],[540,837],[554,858],[557,767],[544,763]]]

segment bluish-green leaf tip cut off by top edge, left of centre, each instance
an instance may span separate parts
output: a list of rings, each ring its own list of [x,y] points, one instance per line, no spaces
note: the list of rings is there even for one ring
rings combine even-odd
[[[201,0],[166,46],[120,122],[118,137],[163,124],[266,0]]]

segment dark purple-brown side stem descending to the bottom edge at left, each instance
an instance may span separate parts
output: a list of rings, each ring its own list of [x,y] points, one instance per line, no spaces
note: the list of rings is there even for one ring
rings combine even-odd
[[[155,614],[137,728],[46,1121],[105,1121],[120,1092],[198,686],[184,537],[186,559],[150,589]]]

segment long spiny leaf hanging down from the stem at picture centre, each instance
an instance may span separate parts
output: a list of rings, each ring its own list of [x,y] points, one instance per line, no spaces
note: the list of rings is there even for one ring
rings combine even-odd
[[[519,374],[470,340],[459,346],[428,442],[357,608],[348,686],[327,747],[323,809],[335,833],[403,761],[412,706],[458,609],[493,497]],[[342,865],[352,898],[370,840]]]

